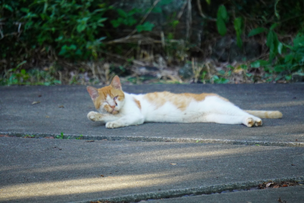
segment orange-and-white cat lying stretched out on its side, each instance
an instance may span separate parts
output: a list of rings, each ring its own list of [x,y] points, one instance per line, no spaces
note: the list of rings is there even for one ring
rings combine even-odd
[[[104,122],[106,128],[140,125],[144,122],[215,122],[261,126],[261,118],[279,119],[279,111],[242,110],[228,99],[213,93],[174,94],[168,91],[147,94],[123,92],[115,76],[109,86],[87,87],[98,112],[88,113],[91,121]]]

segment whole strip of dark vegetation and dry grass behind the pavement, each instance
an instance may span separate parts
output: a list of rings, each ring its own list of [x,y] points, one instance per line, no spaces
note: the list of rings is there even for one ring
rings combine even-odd
[[[304,1],[0,0],[0,85],[303,81]]]

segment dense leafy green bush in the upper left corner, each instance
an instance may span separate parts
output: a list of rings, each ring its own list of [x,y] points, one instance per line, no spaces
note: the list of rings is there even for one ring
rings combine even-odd
[[[54,49],[59,56],[67,59],[91,59],[101,49],[105,39],[105,36],[100,36],[100,31],[107,20],[103,17],[107,9],[105,3],[99,4],[94,0],[34,0],[30,4],[28,1],[12,0],[2,6],[0,18],[12,17],[5,22],[8,29],[4,34],[8,35],[12,30],[16,32],[16,22],[20,22],[20,34],[8,35],[4,41],[15,42],[16,50],[29,47],[35,50],[42,46],[46,52]],[[16,39],[16,36],[19,38]],[[7,43],[1,43],[0,49],[13,55],[14,47],[7,46]],[[30,55],[27,53],[24,57]]]

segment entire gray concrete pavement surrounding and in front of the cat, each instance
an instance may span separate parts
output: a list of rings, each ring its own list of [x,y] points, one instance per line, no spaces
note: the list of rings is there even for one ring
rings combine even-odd
[[[283,119],[264,119],[262,127],[253,128],[145,123],[106,129],[86,118],[94,108],[85,86],[0,87],[0,134],[43,137],[64,132],[71,136],[0,137],[0,201],[132,202],[250,188],[268,180],[304,180],[304,84],[141,85],[123,89],[132,93],[214,92],[244,109],[279,110]],[[32,105],[33,101],[40,103]],[[84,140],[74,139],[81,134]],[[282,193],[278,189],[220,195],[227,195],[231,202],[244,202],[242,194],[270,198]],[[286,190],[286,197],[292,193],[297,202],[302,201],[302,187]],[[218,202],[220,195],[188,199]]]

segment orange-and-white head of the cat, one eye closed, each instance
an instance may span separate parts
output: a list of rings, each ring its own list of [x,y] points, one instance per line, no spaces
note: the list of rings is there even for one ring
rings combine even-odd
[[[121,88],[119,77],[116,75],[109,86],[96,89],[91,86],[87,90],[94,102],[95,108],[102,114],[116,115],[123,108],[125,94]]]

